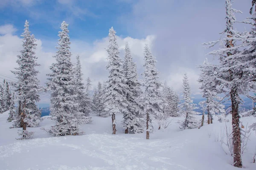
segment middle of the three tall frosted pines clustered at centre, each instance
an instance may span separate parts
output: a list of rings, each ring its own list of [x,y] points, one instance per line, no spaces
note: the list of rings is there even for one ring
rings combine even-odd
[[[143,133],[143,110],[138,98],[142,94],[140,89],[139,76],[137,73],[137,65],[131,56],[131,50],[128,42],[125,44],[125,61],[124,61],[124,76],[127,85],[126,99],[127,112],[124,113],[122,125],[125,128],[125,133]]]

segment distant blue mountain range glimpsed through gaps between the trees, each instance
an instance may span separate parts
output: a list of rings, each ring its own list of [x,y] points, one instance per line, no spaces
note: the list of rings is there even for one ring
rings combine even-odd
[[[195,111],[199,113],[203,113],[202,108],[198,103],[204,100],[205,99],[193,99],[193,102],[197,104],[197,107],[198,107],[198,109],[195,109]],[[253,108],[253,101],[249,98],[243,98],[243,100],[244,100],[244,103],[241,105],[241,108],[244,109],[245,111],[251,110]],[[231,101],[224,102],[223,104],[225,105],[225,109],[227,109],[231,106]],[[50,113],[49,104],[44,104],[40,109],[42,109],[42,117],[49,115]]]

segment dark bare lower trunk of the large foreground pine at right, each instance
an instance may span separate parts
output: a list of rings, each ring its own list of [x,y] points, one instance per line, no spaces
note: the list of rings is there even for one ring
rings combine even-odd
[[[233,127],[233,158],[234,166],[242,167],[241,160],[241,131],[239,127],[239,94],[236,88],[232,88],[230,92],[231,108],[232,108],[232,127]]]

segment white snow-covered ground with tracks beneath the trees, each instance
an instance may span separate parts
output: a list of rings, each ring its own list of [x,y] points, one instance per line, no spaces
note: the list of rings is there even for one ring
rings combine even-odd
[[[117,115],[117,134],[111,134],[111,117],[93,116],[93,122],[81,127],[84,135],[52,137],[41,130],[52,121],[45,116],[35,131],[34,139],[16,140],[17,129],[6,122],[7,112],[0,114],[0,170],[236,170],[232,158],[219,142],[225,123],[214,122],[200,129],[180,130],[174,118],[164,130],[150,135],[124,134]],[[230,117],[229,117],[230,118]],[[201,116],[198,116],[201,119]],[[245,117],[244,125],[255,122]],[[231,128],[230,122],[227,123]],[[219,137],[218,137],[219,136]],[[253,131],[248,150],[243,154],[244,168],[256,170],[252,163],[256,135]],[[225,149],[225,148],[224,148]]]

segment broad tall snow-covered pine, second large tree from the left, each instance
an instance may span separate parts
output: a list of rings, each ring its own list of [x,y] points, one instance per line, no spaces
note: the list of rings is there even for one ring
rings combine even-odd
[[[77,103],[77,91],[75,71],[71,62],[70,37],[68,35],[68,24],[61,23],[61,31],[58,36],[57,54],[54,56],[55,63],[52,63],[48,74],[50,78],[47,86],[51,91],[50,115],[56,123],[49,130],[54,136],[79,135],[79,124],[90,122],[90,118],[79,111]]]

